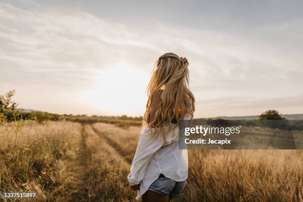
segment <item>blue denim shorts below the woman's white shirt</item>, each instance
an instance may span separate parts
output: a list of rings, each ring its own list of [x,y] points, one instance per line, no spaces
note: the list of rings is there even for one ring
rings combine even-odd
[[[181,195],[185,185],[186,180],[182,182],[175,182],[172,179],[160,174],[159,178],[153,181],[148,190],[158,194],[168,194],[176,197]]]

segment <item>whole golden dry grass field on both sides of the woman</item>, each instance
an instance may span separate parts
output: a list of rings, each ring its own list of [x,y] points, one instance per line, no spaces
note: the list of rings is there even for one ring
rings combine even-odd
[[[39,201],[135,201],[127,174],[140,128],[34,121],[0,126],[0,191]],[[302,150],[190,150],[175,202],[302,202]]]

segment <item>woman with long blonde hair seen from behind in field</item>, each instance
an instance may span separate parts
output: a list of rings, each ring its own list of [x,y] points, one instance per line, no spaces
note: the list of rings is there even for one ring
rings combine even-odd
[[[188,173],[187,150],[179,150],[180,120],[193,119],[195,99],[188,61],[165,53],[156,61],[148,86],[143,129],[128,181],[143,202],[168,202],[179,196]]]

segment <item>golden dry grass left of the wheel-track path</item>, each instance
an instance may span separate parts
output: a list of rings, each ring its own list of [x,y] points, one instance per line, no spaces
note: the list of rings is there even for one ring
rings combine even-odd
[[[0,190],[37,192],[39,201],[70,201],[71,163],[80,124],[33,121],[0,127]]]

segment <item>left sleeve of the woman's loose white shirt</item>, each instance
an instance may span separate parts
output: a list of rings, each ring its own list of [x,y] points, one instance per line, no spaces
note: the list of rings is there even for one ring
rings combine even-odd
[[[141,133],[131,171],[127,177],[131,186],[138,185],[143,180],[153,154],[162,147],[163,142],[160,134],[156,138],[152,138],[150,132]]]

